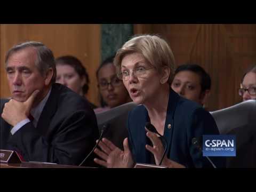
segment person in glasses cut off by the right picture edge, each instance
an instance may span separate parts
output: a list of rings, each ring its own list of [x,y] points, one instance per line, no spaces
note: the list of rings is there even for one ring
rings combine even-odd
[[[238,93],[243,101],[256,99],[256,65],[249,68],[243,75]]]

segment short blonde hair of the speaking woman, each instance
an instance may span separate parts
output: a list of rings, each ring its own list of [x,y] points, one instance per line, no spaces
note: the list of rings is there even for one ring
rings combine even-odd
[[[158,35],[136,35],[127,41],[116,53],[114,65],[117,74],[121,73],[121,63],[125,55],[139,53],[151,66],[161,71],[162,67],[171,69],[168,82],[171,83],[175,59],[168,43]]]

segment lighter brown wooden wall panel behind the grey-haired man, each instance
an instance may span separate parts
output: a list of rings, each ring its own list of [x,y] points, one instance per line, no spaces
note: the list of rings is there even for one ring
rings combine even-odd
[[[1,98],[9,97],[4,71],[4,55],[14,44],[39,41],[55,57],[74,55],[82,61],[90,77],[87,98],[99,105],[95,71],[100,63],[100,25],[1,25]]]

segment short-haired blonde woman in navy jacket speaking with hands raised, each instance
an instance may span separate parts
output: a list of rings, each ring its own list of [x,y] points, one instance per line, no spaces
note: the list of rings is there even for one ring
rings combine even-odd
[[[94,150],[101,159],[94,161],[106,167],[159,165],[164,146],[155,133],[146,129],[150,122],[167,140],[162,165],[212,167],[192,140],[203,134],[219,134],[218,127],[209,112],[171,89],[175,63],[167,42],[155,35],[135,36],[117,51],[114,63],[118,77],[138,106],[129,113],[129,139],[123,142],[124,151],[103,138]],[[225,158],[214,157],[212,161],[217,167],[225,166]]]

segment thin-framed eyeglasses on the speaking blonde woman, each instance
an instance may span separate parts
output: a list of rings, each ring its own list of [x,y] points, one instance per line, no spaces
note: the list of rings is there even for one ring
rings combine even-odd
[[[136,77],[143,77],[147,74],[147,70],[149,69],[154,69],[155,67],[151,67],[151,68],[145,68],[145,67],[138,67],[138,68],[135,68],[133,70],[123,70],[121,73],[117,74],[117,77],[119,79],[122,79],[123,81],[127,81],[130,77],[131,74],[133,74],[134,76]]]

